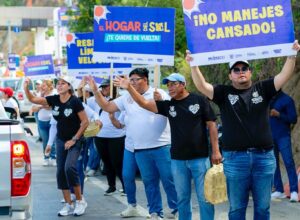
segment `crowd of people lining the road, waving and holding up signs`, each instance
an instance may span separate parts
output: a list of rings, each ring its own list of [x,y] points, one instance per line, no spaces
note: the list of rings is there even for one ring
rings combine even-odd
[[[297,41],[293,49],[300,50]],[[192,61],[189,51],[186,60]],[[135,176],[139,169],[149,210],[145,217],[191,220],[194,182],[199,219],[214,219],[214,206],[204,196],[204,176],[211,163],[223,162],[229,219],[245,219],[250,191],[254,218],[270,219],[276,159],[269,104],[292,76],[295,60],[288,57],[279,74],[257,83],[251,81],[253,70],[248,61],[230,63],[230,86],[212,85],[198,67],[191,67],[197,89],[220,108],[222,154],[215,113],[206,97],[186,89],[182,74],[173,73],[162,80],[168,93],[149,85],[146,68],[135,68],[128,77],[116,77],[113,88],[110,80],[98,86],[93,77],[84,77],[77,95],[70,76],[58,77],[56,89],[51,80],[43,80],[39,94],[29,91],[30,79],[26,79],[26,96],[36,105],[33,112],[42,139],[44,165],[57,166],[57,187],[65,202],[58,215],[85,213],[84,178],[95,174],[101,157],[108,185],[104,195],[117,191],[118,177],[121,193],[127,196],[128,207],[121,217],[142,216],[136,200]],[[127,92],[118,96],[116,87]],[[9,95],[8,90],[4,92]],[[279,117],[274,112],[271,116]],[[95,137],[85,138],[91,121],[101,129]],[[294,163],[292,166],[295,168]],[[294,176],[289,175],[291,180]],[[160,183],[170,213],[163,211]],[[277,185],[279,195],[283,189],[282,184]],[[296,202],[298,189],[294,185],[291,201]]]

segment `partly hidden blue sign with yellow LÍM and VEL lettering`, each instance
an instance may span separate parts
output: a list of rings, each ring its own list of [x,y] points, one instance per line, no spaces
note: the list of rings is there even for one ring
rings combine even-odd
[[[67,34],[68,74],[73,76],[105,76],[110,75],[110,63],[93,61],[93,33]],[[114,63],[113,75],[127,75],[131,64]]]

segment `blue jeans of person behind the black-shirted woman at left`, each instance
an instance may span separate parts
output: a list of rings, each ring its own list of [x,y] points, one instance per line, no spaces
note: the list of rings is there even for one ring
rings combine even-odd
[[[55,152],[55,145],[53,144],[51,146],[51,152],[49,156],[45,156],[45,149],[48,143],[49,139],[49,131],[50,131],[50,121],[40,121],[38,120],[38,129],[40,131],[40,136],[42,138],[43,142],[43,154],[44,154],[44,159],[55,159],[56,158],[56,152]]]

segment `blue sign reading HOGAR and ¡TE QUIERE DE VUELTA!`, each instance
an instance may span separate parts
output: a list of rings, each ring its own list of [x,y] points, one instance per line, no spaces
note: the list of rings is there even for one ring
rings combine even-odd
[[[174,30],[174,8],[95,6],[93,59],[173,66]]]

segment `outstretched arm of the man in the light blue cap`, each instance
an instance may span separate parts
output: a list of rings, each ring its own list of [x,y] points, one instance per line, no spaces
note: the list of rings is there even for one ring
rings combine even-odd
[[[129,80],[126,77],[125,78],[116,77],[116,79],[114,80],[114,85],[119,86],[123,89],[127,89],[129,94],[133,98],[133,100],[142,108],[150,112],[154,112],[154,113],[158,112],[156,102],[153,99],[146,100],[140,93],[138,93],[133,88],[133,86],[130,84]]]

